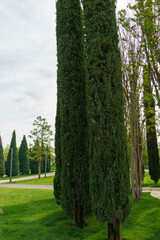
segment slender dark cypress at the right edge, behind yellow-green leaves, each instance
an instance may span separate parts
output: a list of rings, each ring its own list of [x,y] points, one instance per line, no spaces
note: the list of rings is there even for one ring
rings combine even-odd
[[[155,120],[155,101],[152,95],[151,79],[149,77],[148,68],[144,68],[143,74],[144,88],[144,109],[146,118],[146,133],[147,133],[147,151],[149,174],[155,183],[160,179],[159,152],[156,134]]]

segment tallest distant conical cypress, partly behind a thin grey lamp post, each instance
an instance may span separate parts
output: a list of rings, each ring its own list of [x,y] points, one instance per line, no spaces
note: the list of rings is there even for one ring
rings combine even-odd
[[[6,162],[6,174],[10,175],[11,148],[13,148],[12,176],[17,176],[19,171],[19,159],[16,146],[16,132],[13,131],[9,153]]]

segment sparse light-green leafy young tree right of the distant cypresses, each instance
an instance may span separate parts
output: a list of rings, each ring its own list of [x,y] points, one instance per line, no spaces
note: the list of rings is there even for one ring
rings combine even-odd
[[[35,128],[31,130],[29,137],[33,139],[33,144],[31,144],[31,146],[34,146],[33,154],[36,156],[36,161],[38,161],[38,177],[40,178],[42,155],[47,154],[43,146],[51,145],[53,132],[51,130],[51,125],[48,125],[47,120],[41,116],[36,118],[33,122],[33,126]]]

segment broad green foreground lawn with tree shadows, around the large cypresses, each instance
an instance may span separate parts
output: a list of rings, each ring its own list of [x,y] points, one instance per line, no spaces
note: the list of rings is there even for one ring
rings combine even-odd
[[[105,226],[95,217],[85,229],[77,229],[49,190],[0,188],[1,240],[106,240]],[[133,203],[131,214],[122,227],[127,240],[160,240],[160,200],[143,193]]]

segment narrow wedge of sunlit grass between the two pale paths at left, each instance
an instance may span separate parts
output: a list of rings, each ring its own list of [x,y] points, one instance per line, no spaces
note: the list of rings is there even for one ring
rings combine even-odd
[[[31,185],[53,185],[53,176],[51,177],[41,177],[31,180],[24,180],[18,182],[12,182],[13,184],[31,184]]]

